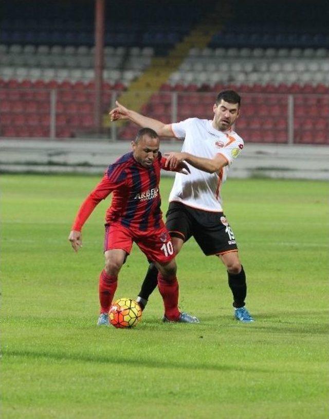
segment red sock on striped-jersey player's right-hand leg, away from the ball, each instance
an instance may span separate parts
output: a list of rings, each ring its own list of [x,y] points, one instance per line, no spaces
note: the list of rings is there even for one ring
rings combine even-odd
[[[165,278],[159,272],[158,287],[165,305],[165,316],[168,320],[178,320],[180,313],[178,311],[178,282],[176,275]]]

